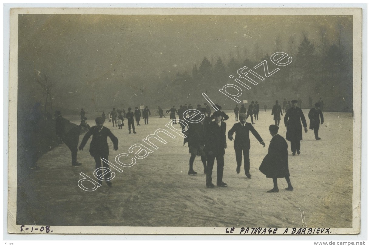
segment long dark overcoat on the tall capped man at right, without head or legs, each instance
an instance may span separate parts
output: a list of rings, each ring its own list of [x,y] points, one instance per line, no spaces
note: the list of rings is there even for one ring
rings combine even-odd
[[[300,108],[289,108],[286,111],[284,117],[284,124],[286,126],[286,140],[288,141],[297,141],[302,140],[302,125],[307,127],[305,115],[303,115],[302,109]]]

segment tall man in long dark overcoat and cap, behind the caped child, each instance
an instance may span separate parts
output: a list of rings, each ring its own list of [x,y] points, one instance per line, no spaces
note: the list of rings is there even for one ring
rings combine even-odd
[[[292,100],[292,108],[286,111],[284,124],[286,127],[286,140],[290,141],[290,149],[293,155],[300,154],[300,141],[302,140],[302,125],[307,133],[307,123],[302,109],[297,107],[297,100]]]

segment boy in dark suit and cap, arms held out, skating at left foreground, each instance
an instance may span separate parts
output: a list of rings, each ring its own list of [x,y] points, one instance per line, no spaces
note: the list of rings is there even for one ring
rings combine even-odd
[[[98,117],[95,119],[96,125],[91,127],[91,129],[85,134],[84,138],[81,141],[80,146],[78,149],[83,150],[88,139],[92,135],[92,140],[90,143],[90,155],[94,157],[95,160],[95,170],[96,170],[96,175],[101,177],[102,173],[106,172],[104,175],[104,178],[102,179],[109,179],[111,176],[110,171],[103,171],[101,168],[101,159],[106,159],[108,161],[108,155],[109,155],[109,147],[108,147],[108,142],[107,138],[109,137],[113,143],[113,149],[118,150],[118,139],[112,134],[110,129],[104,127],[104,121],[103,118]],[[105,169],[110,170],[110,167],[107,163],[103,161],[103,167]],[[97,170],[98,169],[98,170]],[[112,182],[106,181],[108,186],[112,186]],[[98,183],[101,185],[102,181],[99,180]]]

